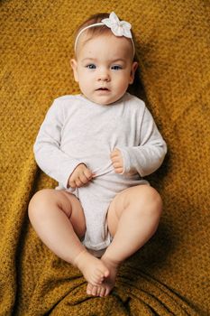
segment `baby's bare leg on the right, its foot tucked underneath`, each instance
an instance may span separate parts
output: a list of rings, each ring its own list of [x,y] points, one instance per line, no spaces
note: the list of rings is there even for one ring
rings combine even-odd
[[[114,287],[118,266],[139,250],[158,228],[162,202],[157,191],[139,185],[117,194],[107,215],[108,228],[114,237],[101,260],[110,275],[99,285],[87,285],[87,293],[106,296]]]

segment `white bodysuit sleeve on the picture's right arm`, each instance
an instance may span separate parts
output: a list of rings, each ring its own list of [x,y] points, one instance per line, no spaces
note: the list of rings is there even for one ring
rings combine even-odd
[[[138,172],[144,177],[160,167],[167,153],[167,145],[147,107],[142,117],[140,144],[119,149],[123,154],[122,174]]]

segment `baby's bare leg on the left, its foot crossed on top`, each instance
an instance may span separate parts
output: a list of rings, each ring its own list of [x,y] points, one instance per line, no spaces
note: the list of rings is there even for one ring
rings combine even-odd
[[[79,200],[65,191],[42,190],[29,204],[29,218],[41,240],[57,256],[78,266],[87,282],[101,283],[109,274],[104,263],[87,252],[86,221]]]

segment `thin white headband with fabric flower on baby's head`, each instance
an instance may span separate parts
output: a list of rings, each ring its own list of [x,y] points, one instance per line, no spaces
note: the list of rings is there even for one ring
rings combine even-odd
[[[131,39],[132,48],[133,48],[133,56],[135,55],[135,45],[134,45],[134,42],[132,40],[132,33],[131,33],[132,25],[126,21],[120,21],[118,16],[116,14],[114,14],[114,12],[112,12],[109,15],[109,18],[103,19],[100,23],[94,23],[94,24],[90,24],[90,25],[87,25],[86,27],[84,27],[78,33],[78,36],[75,40],[75,51],[76,51],[77,44],[78,44],[78,38],[81,35],[81,33],[83,33],[84,31],[86,31],[87,29],[89,29],[91,27],[101,26],[101,25],[106,25],[108,28],[110,28],[112,33],[114,33],[115,36],[124,36],[124,37]]]

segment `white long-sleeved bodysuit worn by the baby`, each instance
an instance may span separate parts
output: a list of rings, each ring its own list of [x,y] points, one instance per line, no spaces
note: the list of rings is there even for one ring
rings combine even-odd
[[[123,155],[123,173],[114,172],[110,153]],[[167,147],[144,102],[129,93],[112,105],[98,105],[82,95],[54,100],[34,144],[41,170],[59,181],[58,190],[78,197],[87,232],[83,241],[92,250],[105,249],[111,237],[106,215],[114,196],[138,184],[160,167]],[[79,163],[96,177],[73,190],[68,178]],[[134,173],[134,174],[133,174]]]

